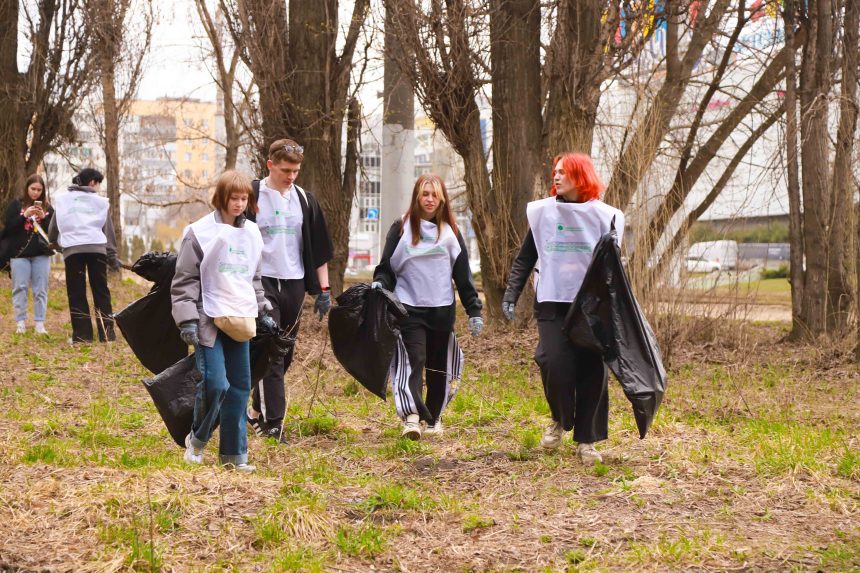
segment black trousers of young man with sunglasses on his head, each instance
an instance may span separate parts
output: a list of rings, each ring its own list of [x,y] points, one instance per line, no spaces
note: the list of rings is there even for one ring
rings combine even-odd
[[[278,326],[291,329],[292,335],[298,334],[296,320],[305,300],[304,279],[280,280],[263,277],[263,290],[266,299],[272,303],[272,318]],[[294,328],[295,325],[295,328]],[[287,409],[284,392],[284,375],[293,362],[293,348],[284,359],[269,365],[269,371],[261,380],[254,380],[251,390],[251,407],[262,412],[268,424],[280,424]]]

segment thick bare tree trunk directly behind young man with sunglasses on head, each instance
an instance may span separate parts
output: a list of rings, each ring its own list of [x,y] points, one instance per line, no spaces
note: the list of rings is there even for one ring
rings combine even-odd
[[[341,55],[338,1],[222,0],[231,32],[259,88],[262,140],[259,153],[280,137],[305,148],[299,184],[314,193],[326,214],[334,243],[329,262],[332,291],[343,290],[349,255],[349,212],[355,185],[344,185],[342,130],[350,72],[369,0],[353,6]]]

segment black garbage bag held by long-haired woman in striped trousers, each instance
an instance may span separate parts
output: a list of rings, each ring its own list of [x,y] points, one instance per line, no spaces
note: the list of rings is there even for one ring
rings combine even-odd
[[[358,382],[385,400],[388,369],[407,312],[385,289],[366,283],[350,287],[337,297],[328,319],[335,358]]]

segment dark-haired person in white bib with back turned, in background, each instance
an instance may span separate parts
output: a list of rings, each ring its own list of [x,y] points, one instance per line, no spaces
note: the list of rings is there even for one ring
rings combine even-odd
[[[119,270],[116,235],[108,216],[110,203],[98,195],[104,175],[85,168],[66,193],[54,199],[55,214],[48,238],[60,245],[66,265],[66,292],[72,319],[72,342],[92,342],[93,325],[87,303],[87,276],[96,306],[99,341],[115,340],[108,266]]]

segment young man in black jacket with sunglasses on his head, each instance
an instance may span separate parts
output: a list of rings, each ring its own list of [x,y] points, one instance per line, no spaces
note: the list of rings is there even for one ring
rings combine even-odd
[[[269,146],[269,175],[254,181],[256,221],[263,235],[263,289],[272,303],[271,316],[281,328],[298,332],[305,292],[316,295],[314,312],[322,320],[331,308],[328,261],[332,244],[325,216],[316,198],[295,184],[304,161],[304,148],[292,139]],[[283,361],[272,364],[262,380],[255,380],[248,423],[262,436],[285,441],[284,375],[293,361],[293,349]]]

